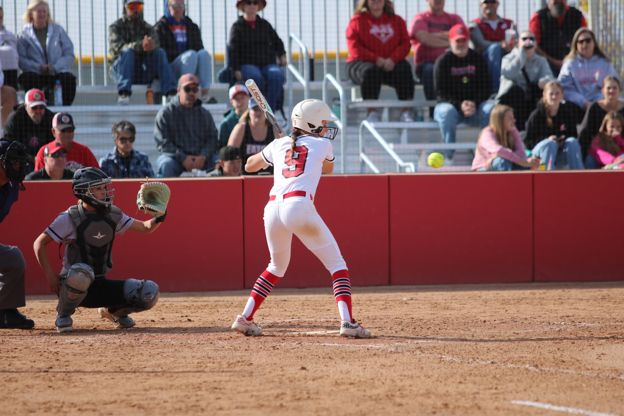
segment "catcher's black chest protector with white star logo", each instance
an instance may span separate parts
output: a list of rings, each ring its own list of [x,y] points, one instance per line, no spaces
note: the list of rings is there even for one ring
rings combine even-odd
[[[95,276],[103,276],[113,267],[111,259],[117,225],[121,210],[112,206],[109,213],[85,213],[82,205],[69,208],[76,239],[67,243],[69,264],[86,263],[93,268]]]

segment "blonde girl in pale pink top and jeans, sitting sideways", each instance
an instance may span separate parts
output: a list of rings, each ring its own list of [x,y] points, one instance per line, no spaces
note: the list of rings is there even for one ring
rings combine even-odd
[[[527,158],[522,138],[515,128],[514,110],[507,105],[494,107],[490,125],[479,134],[472,170],[522,170],[539,165],[539,157]]]

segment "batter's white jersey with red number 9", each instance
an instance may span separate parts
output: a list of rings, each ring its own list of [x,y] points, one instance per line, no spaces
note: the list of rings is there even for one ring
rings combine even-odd
[[[290,136],[276,138],[261,152],[265,163],[274,168],[275,180],[270,195],[284,195],[291,191],[314,195],[323,161],[334,162],[333,147],[328,138],[301,135],[297,137],[294,154],[292,143]]]

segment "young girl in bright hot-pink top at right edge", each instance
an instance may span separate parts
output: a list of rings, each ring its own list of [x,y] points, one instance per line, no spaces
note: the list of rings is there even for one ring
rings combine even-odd
[[[622,139],[624,117],[616,111],[605,115],[598,135],[593,138],[590,146],[588,163],[592,167],[602,168],[605,165],[624,163],[624,140]],[[590,160],[592,158],[593,160]]]

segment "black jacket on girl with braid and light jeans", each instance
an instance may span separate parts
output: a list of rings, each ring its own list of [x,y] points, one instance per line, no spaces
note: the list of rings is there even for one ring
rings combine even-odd
[[[574,112],[570,105],[575,104],[568,102],[560,104],[557,115],[552,117],[552,127],[548,127],[544,102],[539,100],[537,109],[529,115],[527,135],[524,138],[525,147],[531,150],[537,143],[552,135],[557,137],[563,135],[565,138],[577,137],[577,121],[574,119]]]

